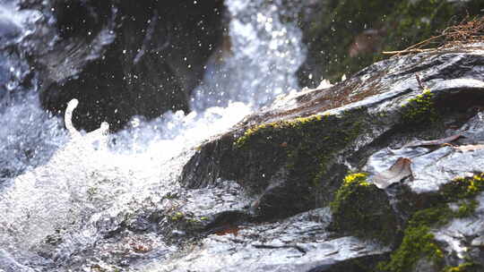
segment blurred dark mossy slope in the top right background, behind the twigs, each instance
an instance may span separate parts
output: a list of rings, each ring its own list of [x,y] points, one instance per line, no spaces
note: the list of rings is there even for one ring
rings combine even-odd
[[[314,0],[307,5],[298,22],[307,61],[298,75],[301,86],[313,88],[322,79],[339,81],[384,59],[382,51],[403,50],[439,35],[484,9],[480,0]]]

